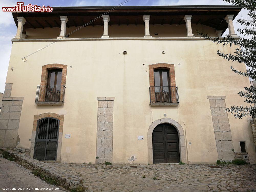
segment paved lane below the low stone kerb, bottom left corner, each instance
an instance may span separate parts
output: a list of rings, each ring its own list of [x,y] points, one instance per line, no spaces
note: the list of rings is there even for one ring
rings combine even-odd
[[[3,188],[15,188],[16,190],[4,190]],[[19,188],[30,188],[30,190],[18,190]],[[36,190],[35,187],[39,188],[59,188],[47,184],[44,180],[34,176],[30,170],[10,162],[7,159],[0,158],[0,191],[55,191],[64,192],[65,190]],[[33,188],[33,189],[32,189]]]

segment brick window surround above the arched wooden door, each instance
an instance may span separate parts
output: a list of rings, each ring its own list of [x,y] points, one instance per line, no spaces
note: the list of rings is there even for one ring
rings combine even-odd
[[[152,65],[148,65],[149,69],[149,84],[150,87],[155,86],[155,78],[154,78],[154,70],[155,69],[166,69],[169,70],[169,80],[170,80],[170,86],[176,86],[176,81],[175,81],[175,70],[174,70],[174,64],[168,64],[168,63],[155,63]],[[154,89],[150,92],[150,97],[152,100],[155,100],[155,92]],[[172,102],[176,101],[176,89],[173,89],[171,92],[171,99]]]

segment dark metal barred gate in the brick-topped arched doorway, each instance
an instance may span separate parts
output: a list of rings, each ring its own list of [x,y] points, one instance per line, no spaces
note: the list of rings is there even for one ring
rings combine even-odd
[[[54,160],[57,157],[59,120],[43,118],[37,121],[34,159]]]

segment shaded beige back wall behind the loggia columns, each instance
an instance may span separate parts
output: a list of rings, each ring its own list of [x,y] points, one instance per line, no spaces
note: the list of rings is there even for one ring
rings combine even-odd
[[[144,37],[144,25],[109,25],[109,37]],[[78,29],[78,27],[67,27],[66,34]],[[196,37],[196,29],[210,36],[216,36],[214,28],[201,24],[192,24],[192,31]],[[158,35],[155,35],[158,33]],[[26,29],[27,39],[41,39],[41,38],[57,38],[60,35],[60,28],[36,28]],[[81,28],[76,33],[71,34],[67,38],[97,38],[103,34],[103,26],[95,25]],[[185,24],[177,25],[150,25],[150,34],[152,37],[187,37],[187,29]]]

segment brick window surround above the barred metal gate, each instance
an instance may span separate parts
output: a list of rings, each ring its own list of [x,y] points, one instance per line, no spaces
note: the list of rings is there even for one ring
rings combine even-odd
[[[67,77],[67,65],[59,64],[59,63],[52,63],[42,66],[42,74],[41,74],[41,82],[40,86],[43,89],[43,94],[40,95],[39,101],[45,101],[45,95],[46,95],[46,86],[47,86],[47,80],[48,80],[48,71],[52,69],[61,69],[62,70],[62,76],[61,76],[61,86],[66,85],[66,77]],[[60,92],[60,100],[62,100],[63,97],[63,87],[61,87]]]

